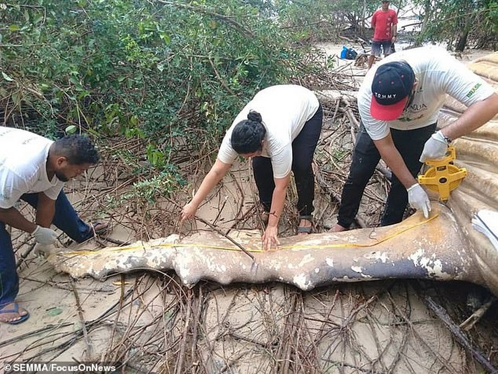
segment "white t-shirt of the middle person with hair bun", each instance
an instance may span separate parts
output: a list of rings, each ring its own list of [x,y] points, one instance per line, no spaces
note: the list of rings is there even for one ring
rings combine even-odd
[[[261,156],[271,158],[273,176],[283,178],[292,167],[292,141],[301,132],[306,121],[318,110],[318,99],[305,87],[297,85],[271,86],[259,91],[235,118],[223,138],[218,159],[231,164],[237,158],[232,148],[232,130],[247,120],[251,110],[261,115],[266,128]]]

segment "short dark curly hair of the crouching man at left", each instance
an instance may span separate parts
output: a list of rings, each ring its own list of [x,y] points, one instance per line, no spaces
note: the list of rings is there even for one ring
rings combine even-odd
[[[95,145],[85,135],[69,135],[57,139],[50,146],[50,153],[66,157],[72,165],[94,165],[100,159]]]

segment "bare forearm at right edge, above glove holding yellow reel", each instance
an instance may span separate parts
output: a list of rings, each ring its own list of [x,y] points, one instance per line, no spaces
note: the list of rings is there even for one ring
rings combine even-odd
[[[444,127],[441,132],[450,139],[456,139],[490,121],[498,113],[498,95],[495,93],[489,98],[471,105],[451,125]]]

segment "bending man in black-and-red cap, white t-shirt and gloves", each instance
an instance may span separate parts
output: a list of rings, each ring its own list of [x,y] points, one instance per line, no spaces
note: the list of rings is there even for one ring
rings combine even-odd
[[[446,94],[468,108],[434,132]],[[407,202],[428,218],[429,198],[416,180],[422,162],[443,157],[453,139],[491,120],[498,113],[498,95],[446,51],[421,47],[389,55],[371,69],[358,92],[358,108],[362,126],[335,232],[352,224],[380,158],[393,173],[381,225],[400,222]]]

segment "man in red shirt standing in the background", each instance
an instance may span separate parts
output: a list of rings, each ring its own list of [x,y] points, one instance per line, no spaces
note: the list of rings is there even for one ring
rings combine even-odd
[[[382,7],[372,16],[373,41],[368,69],[372,67],[375,56],[380,57],[380,48],[382,48],[384,57],[394,52],[392,46],[396,40],[397,23],[396,12],[389,9],[389,1],[383,0]]]

